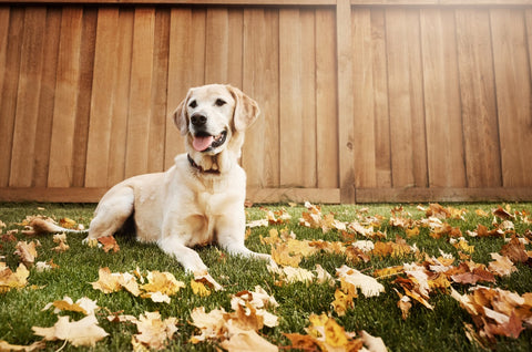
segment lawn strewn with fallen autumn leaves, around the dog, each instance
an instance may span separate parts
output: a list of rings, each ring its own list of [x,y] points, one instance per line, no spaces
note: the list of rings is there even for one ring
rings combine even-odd
[[[60,338],[47,341],[43,350],[127,351],[133,343],[140,349],[147,332],[140,333],[136,322],[147,319],[146,312],[161,315],[152,327],[171,325],[158,345],[175,351],[216,351],[231,346],[234,335],[244,337],[244,342],[267,341],[280,350],[296,343],[307,351],[327,346],[341,351],[360,345],[361,331],[380,338],[389,351],[532,350],[532,204],[254,206],[246,209],[252,225],[246,245],[273,252],[278,267],[232,257],[215,246],[197,248],[223,290],[195,281],[156,246],[136,242],[131,234],[115,235],[120,250],[109,252],[82,244],[84,235],[68,235],[69,248],[54,250],[60,244],[52,235],[22,234],[27,216],[71,219],[88,227],[93,209],[94,205],[0,204],[0,341],[4,345],[42,340],[32,327],[54,327],[59,317],[69,317],[70,322],[85,319],[80,311],[43,310],[52,302],[60,307],[58,301],[70,297],[74,302],[82,298],[96,302],[95,325],[108,335],[89,346]],[[27,282],[10,289],[2,280],[27,260],[16,253],[20,241],[39,241],[38,257],[28,265]],[[53,266],[41,270],[38,261]],[[355,270],[344,268],[338,276],[342,266]],[[149,272],[170,272],[172,282],[182,288],[168,292],[170,303],[124,287],[106,293],[91,283],[99,281],[101,268],[115,277],[131,273],[141,288]],[[318,276],[319,268],[332,281],[323,271]],[[257,286],[269,304],[241,301],[235,308],[234,301],[250,297],[247,290]],[[201,329],[198,317],[213,318],[221,309],[226,312],[217,318],[221,328]],[[277,317],[275,323],[266,323],[262,315],[266,312]],[[125,315],[130,321],[124,321]],[[246,329],[253,333],[242,332]]]

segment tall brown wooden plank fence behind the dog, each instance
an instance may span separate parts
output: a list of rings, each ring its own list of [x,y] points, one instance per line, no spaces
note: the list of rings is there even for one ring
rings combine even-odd
[[[532,200],[532,1],[75,2],[0,0],[2,201],[168,168],[214,82],[263,112],[253,201]]]

